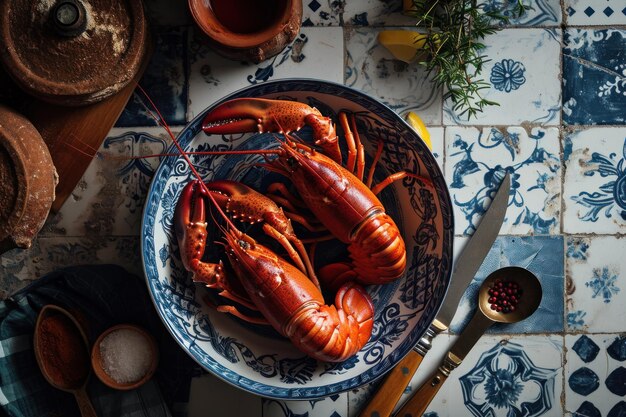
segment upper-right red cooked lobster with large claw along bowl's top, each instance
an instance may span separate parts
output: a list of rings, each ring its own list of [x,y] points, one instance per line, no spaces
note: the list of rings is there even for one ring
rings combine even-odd
[[[331,288],[349,281],[385,284],[403,275],[406,248],[397,225],[386,214],[376,194],[391,182],[413,174],[404,171],[393,174],[370,189],[382,144],[364,183],[364,151],[354,121],[351,127],[345,113],[340,113],[339,118],[348,144],[346,167],[341,164],[338,137],[331,119],[303,103],[258,98],[231,100],[207,114],[203,130],[207,134],[285,133],[285,140],[276,149],[277,158],[267,159],[267,168],[289,178],[315,218],[335,238],[348,244],[352,259],[323,267],[318,271],[320,280]],[[305,125],[312,127],[315,143],[322,152],[289,135]],[[287,215],[294,221],[302,218],[293,213]]]

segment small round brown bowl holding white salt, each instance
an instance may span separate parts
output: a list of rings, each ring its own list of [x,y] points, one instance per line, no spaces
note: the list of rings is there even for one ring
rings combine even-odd
[[[141,377],[140,379],[133,381],[133,382],[129,382],[129,383],[117,382],[109,374],[106,373],[104,369],[102,352],[100,351],[100,343],[104,340],[105,337],[107,337],[109,334],[113,333],[114,331],[123,330],[123,329],[137,332],[141,334],[143,337],[145,337],[146,340],[148,341],[148,344],[150,345],[150,352],[152,355],[150,365],[148,366],[148,370],[146,371],[145,375]],[[103,384],[111,388],[117,389],[117,390],[131,390],[131,389],[138,388],[141,385],[145,384],[154,375],[154,372],[156,371],[158,363],[159,363],[159,350],[157,348],[156,341],[154,340],[152,335],[150,335],[144,329],[142,329],[141,327],[135,326],[133,324],[118,324],[116,326],[113,326],[105,330],[100,336],[98,336],[91,350],[91,367],[93,368],[94,373],[96,374],[98,379],[102,381]]]

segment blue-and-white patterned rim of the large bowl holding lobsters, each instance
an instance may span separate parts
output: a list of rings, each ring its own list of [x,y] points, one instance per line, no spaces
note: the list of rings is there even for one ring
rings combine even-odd
[[[281,85],[291,85],[291,87],[281,88]],[[454,246],[454,212],[453,212],[453,204],[451,200],[450,191],[445,181],[443,171],[439,167],[438,163],[436,162],[434,155],[432,154],[432,151],[430,151],[430,149],[428,148],[426,143],[423,141],[423,139],[406,122],[406,120],[404,120],[400,116],[399,113],[391,109],[387,104],[383,103],[380,99],[377,99],[373,97],[372,95],[369,95],[367,93],[364,93],[360,90],[357,90],[353,87],[350,87],[344,84],[340,84],[340,83],[333,82],[333,81],[315,79],[315,78],[294,77],[294,78],[281,78],[278,80],[266,81],[263,83],[253,84],[253,85],[239,88],[228,95],[218,98],[217,100],[212,102],[210,105],[202,109],[196,116],[192,118],[191,121],[187,122],[185,126],[183,127],[183,129],[178,133],[177,139],[180,140],[186,132],[191,130],[192,126],[198,125],[201,119],[205,117],[208,111],[210,111],[211,109],[215,108],[217,105],[225,101],[232,100],[234,98],[255,97],[255,96],[265,95],[265,94],[280,94],[280,93],[287,94],[289,92],[294,92],[294,91],[297,91],[297,92],[310,91],[312,93],[322,93],[322,94],[325,93],[324,91],[320,91],[320,87],[329,88],[329,89],[346,90],[347,92],[349,92],[350,94],[354,96],[361,97],[362,99],[366,101],[374,102],[376,103],[377,106],[384,108],[391,115],[393,115],[394,120],[401,122],[401,124],[403,124],[406,127],[406,129],[410,129],[415,134],[415,136],[420,138],[421,143],[417,146],[421,146],[423,147],[423,149],[427,151],[427,152],[424,152],[423,155],[420,154],[420,157],[425,157],[427,159],[426,165],[429,167],[432,167],[434,172],[437,174],[436,176],[432,177],[431,180],[433,181],[433,183],[436,183],[439,189],[444,191],[442,195],[439,196],[439,199],[441,202],[442,212],[447,210],[447,213],[449,214],[449,218],[447,219],[447,221],[444,221],[443,233],[442,233],[442,239],[444,240],[444,244],[443,244],[443,253],[441,257],[441,262],[442,262],[442,266],[441,266],[442,283],[441,284],[444,285],[445,288],[443,289],[441,293],[438,304],[434,308],[432,308],[428,312],[428,314],[425,316],[424,323],[427,323],[427,324],[423,327],[422,331],[416,332],[419,334],[413,338],[414,340],[410,340],[410,341],[405,340],[403,343],[401,343],[396,348],[396,350],[400,350],[402,348],[404,349],[404,351],[401,354],[396,355],[393,358],[393,360],[387,357],[382,362],[378,363],[377,365],[369,367],[364,372],[365,374],[367,374],[365,376],[361,374],[359,376],[352,377],[348,380],[343,380],[343,381],[333,383],[330,385],[315,386],[315,387],[309,387],[309,388],[306,388],[306,386],[299,386],[296,388],[276,387],[276,386],[265,384],[262,382],[257,382],[239,373],[235,374],[236,376],[232,376],[231,374],[234,374],[232,369],[227,368],[224,365],[221,365],[212,357],[208,358],[208,362],[210,362],[212,366],[202,363],[199,360],[199,358],[197,356],[194,356],[193,352],[186,346],[185,341],[181,340],[181,338],[175,333],[174,331],[175,329],[171,327],[172,324],[166,321],[165,318],[162,316],[162,313],[158,307],[159,303],[155,299],[155,294],[153,292],[153,288],[150,283],[149,271],[146,270],[145,250],[146,250],[147,242],[146,242],[145,230],[148,224],[150,223],[149,218],[148,218],[149,217],[149,204],[150,204],[149,196],[152,195],[154,192],[154,188],[157,183],[159,171],[162,169],[164,165],[164,161],[166,161],[167,159],[163,159],[163,161],[159,164],[159,167],[155,170],[153,174],[153,177],[150,182],[150,187],[147,192],[146,202],[143,207],[143,213],[142,213],[141,236],[140,236],[142,268],[143,268],[144,276],[145,276],[146,283],[147,283],[148,290],[149,290],[148,292],[150,293],[150,298],[152,300],[153,306],[155,307],[155,310],[157,311],[159,318],[164,323],[166,329],[168,330],[172,338],[174,338],[174,340],[176,340],[179,346],[181,346],[181,348],[203,369],[212,373],[213,375],[223,380],[224,382],[230,385],[233,385],[239,389],[248,391],[252,394],[261,395],[267,398],[273,398],[273,399],[279,399],[279,400],[289,400],[289,399],[304,400],[304,399],[323,398],[332,394],[336,394],[338,392],[345,392],[348,390],[357,389],[359,387],[366,385],[367,383],[376,381],[379,378],[386,375],[398,362],[400,362],[406,355],[408,355],[413,350],[414,346],[417,344],[420,338],[428,330],[429,325],[433,322],[433,320],[436,317],[436,314],[438,313],[439,309],[441,308],[441,305],[443,304],[443,301],[445,299],[445,296],[450,286],[450,278],[452,276],[452,267],[453,267],[452,259],[453,259],[453,246]],[[271,90],[271,91],[270,92],[268,91],[257,92],[258,90],[264,90],[264,89]],[[255,94],[255,92],[257,93]],[[329,94],[329,93],[326,93],[326,94]],[[172,144],[171,146],[173,147],[174,145]],[[170,158],[170,157],[166,157],[166,158]],[[446,245],[445,242],[447,242],[448,244]],[[383,369],[383,370],[375,375],[371,375],[371,373],[374,372],[372,371],[372,369]],[[350,384],[349,383],[350,381],[354,381],[354,382]]]

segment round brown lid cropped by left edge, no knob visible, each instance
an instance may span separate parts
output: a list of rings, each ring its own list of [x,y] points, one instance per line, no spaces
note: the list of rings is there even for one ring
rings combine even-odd
[[[57,182],[39,132],[0,105],[0,253],[30,247],[48,217]]]

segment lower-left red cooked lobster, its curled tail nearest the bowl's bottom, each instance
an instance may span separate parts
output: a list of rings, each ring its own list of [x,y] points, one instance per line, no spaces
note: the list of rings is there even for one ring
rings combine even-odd
[[[202,261],[207,242],[205,198],[212,199],[200,180],[188,183],[178,201],[176,236],[185,268],[221,294],[247,307],[258,309],[265,320],[307,355],[328,362],[341,362],[358,352],[370,338],[374,306],[360,285],[348,282],[326,305],[318,287],[301,270],[280,258],[232,223],[224,230],[225,247],[236,279],[226,276],[224,266]],[[249,301],[248,301],[249,300]],[[218,307],[255,323],[233,306]]]

